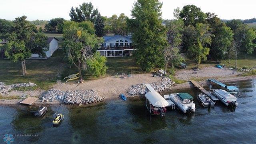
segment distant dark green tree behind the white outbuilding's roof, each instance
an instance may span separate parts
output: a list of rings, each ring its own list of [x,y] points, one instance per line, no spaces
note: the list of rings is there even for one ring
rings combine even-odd
[[[44,28],[48,32],[60,32],[63,30],[63,23],[65,22],[64,18],[53,18],[50,20],[48,24],[44,26]]]

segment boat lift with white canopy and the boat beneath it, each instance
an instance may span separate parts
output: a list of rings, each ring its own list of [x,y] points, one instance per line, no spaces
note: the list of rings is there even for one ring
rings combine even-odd
[[[166,114],[166,106],[168,102],[160,95],[158,92],[148,92],[146,96],[146,108],[151,115],[161,115]]]

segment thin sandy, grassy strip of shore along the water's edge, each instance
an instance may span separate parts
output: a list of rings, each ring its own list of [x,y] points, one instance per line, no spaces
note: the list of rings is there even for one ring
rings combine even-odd
[[[256,78],[256,76],[235,76],[235,77],[230,77],[230,78],[221,78],[221,82],[237,82],[237,81],[242,81],[242,80],[252,80]],[[217,79],[217,78],[216,78]],[[219,79],[217,79],[219,80]],[[199,81],[198,84],[200,85],[207,85],[207,80],[204,81]],[[172,86],[169,90],[179,90],[179,89],[186,89],[186,88],[193,88],[194,85],[191,84],[190,82],[185,82],[182,84],[176,84],[175,86]],[[165,90],[166,91],[166,90]],[[134,96],[127,96],[128,99],[130,100],[137,100],[137,99],[141,99],[142,95],[134,95]],[[65,105],[65,106],[70,106],[70,107],[88,107],[88,106],[95,106],[98,104],[102,104],[104,102],[108,102],[109,100],[118,100],[119,96],[118,94],[115,94],[112,97],[105,97],[103,102],[98,102],[98,103],[94,103],[94,104],[86,104],[86,105],[82,105],[82,106],[78,106],[78,105],[71,105],[71,104],[64,104],[60,101],[54,101],[54,102],[40,102],[40,100],[37,100],[36,102],[34,102],[31,106],[39,106],[39,105],[47,105],[47,106],[52,106],[52,105]],[[12,100],[8,100],[8,99],[0,99],[0,105],[1,106],[29,106],[29,105],[24,105],[24,104],[20,104],[20,102],[23,99],[12,99]]]

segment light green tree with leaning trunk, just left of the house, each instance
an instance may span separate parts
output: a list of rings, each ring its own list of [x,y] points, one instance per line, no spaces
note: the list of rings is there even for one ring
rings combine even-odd
[[[82,70],[86,70],[86,61],[93,56],[93,48],[99,46],[99,40],[95,34],[72,23],[69,28],[64,29],[64,42],[62,44],[66,54],[66,60],[78,68],[79,76],[82,79]]]

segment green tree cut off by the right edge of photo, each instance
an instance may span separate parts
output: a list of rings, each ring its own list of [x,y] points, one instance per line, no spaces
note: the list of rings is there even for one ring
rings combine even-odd
[[[254,40],[256,39],[256,32],[253,28],[250,28],[246,24],[240,24],[236,29],[235,33],[236,42],[238,42],[238,50],[240,52],[245,52],[245,54],[252,54],[256,44]]]

